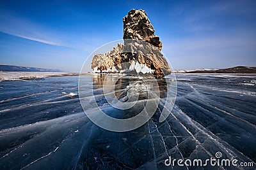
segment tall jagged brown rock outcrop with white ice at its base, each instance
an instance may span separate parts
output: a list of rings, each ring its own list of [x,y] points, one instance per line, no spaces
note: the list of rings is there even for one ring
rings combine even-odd
[[[154,27],[143,10],[131,10],[123,18],[124,45],[118,45],[104,54],[95,54],[92,60],[94,73],[154,74],[163,78],[171,73],[161,53],[162,43],[154,35]]]

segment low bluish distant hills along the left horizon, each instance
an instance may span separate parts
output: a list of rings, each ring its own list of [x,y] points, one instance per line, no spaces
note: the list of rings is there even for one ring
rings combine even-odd
[[[61,72],[60,69],[42,69],[38,67],[22,67],[22,66],[9,66],[9,65],[0,65],[0,71]]]

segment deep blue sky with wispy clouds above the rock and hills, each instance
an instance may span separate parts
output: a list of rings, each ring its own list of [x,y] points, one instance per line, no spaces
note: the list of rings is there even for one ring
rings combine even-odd
[[[1,1],[0,64],[77,72],[147,13],[173,69],[256,66],[256,1]]]

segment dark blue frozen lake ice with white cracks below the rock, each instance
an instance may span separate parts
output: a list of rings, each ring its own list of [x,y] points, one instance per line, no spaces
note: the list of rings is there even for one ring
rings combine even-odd
[[[93,86],[95,99],[106,114],[119,118],[131,116],[132,111],[118,111],[106,104],[100,83],[102,77],[84,76],[88,78],[84,85],[88,90]],[[77,76],[2,81],[0,167],[186,169],[166,167],[164,160],[168,156],[209,159],[216,152],[221,152],[223,159],[255,162],[256,75],[177,74],[177,80],[177,99],[169,117],[159,123],[161,103],[147,124],[129,132],[106,131],[86,118],[78,97],[64,94],[77,93]],[[163,85],[159,87],[164,97],[164,83],[158,81]],[[116,96],[125,100],[126,87],[133,83],[136,80],[120,80],[116,84]],[[136,87],[143,101],[143,89]],[[141,108],[138,106],[136,109]],[[93,108],[88,108],[88,111],[93,114]]]

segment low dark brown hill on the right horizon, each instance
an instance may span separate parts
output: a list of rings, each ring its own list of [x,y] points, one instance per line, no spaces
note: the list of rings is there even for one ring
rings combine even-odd
[[[186,73],[256,73],[256,67],[237,66],[227,69],[195,70]]]

